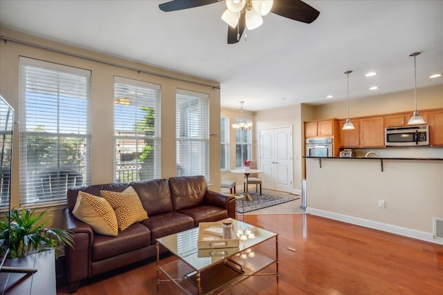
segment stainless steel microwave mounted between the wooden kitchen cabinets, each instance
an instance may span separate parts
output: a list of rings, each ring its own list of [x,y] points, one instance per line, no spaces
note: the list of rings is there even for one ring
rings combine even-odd
[[[386,146],[428,146],[429,125],[386,128],[385,144]]]

